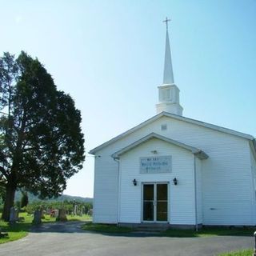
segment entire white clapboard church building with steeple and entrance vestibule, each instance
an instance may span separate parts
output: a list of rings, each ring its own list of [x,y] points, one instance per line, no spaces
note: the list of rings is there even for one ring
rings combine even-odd
[[[182,116],[168,30],[158,94],[158,114],[90,150],[94,222],[255,226],[255,138]]]

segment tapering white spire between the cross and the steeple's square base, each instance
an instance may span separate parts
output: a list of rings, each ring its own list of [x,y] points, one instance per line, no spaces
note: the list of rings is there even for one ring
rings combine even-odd
[[[167,22],[166,22],[167,24]],[[163,71],[163,84],[173,84],[174,83],[174,73],[173,66],[171,64],[171,54],[170,54],[170,42],[168,34],[168,26],[166,26],[166,54],[165,54],[165,67]]]

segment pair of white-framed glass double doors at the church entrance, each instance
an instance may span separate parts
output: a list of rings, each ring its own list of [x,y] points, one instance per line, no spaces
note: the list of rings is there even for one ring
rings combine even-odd
[[[142,195],[143,222],[168,222],[168,183],[144,183]]]

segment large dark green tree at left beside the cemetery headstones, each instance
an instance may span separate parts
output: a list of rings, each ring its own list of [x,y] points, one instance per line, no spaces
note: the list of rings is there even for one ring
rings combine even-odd
[[[15,190],[58,196],[82,168],[80,111],[25,52],[0,58],[0,180],[6,187],[2,218],[9,220]]]

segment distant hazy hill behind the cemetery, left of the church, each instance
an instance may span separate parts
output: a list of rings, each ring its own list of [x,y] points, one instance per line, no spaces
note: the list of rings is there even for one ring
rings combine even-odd
[[[28,197],[29,197],[29,202],[42,201],[37,196],[35,196],[34,194],[31,194],[31,193],[28,193]],[[22,198],[22,192],[16,191],[14,201],[20,201],[21,198]],[[82,198],[82,197],[72,196],[72,195],[68,195],[68,194],[62,194],[58,198],[50,198],[50,199],[47,199],[46,201],[63,202],[65,200],[68,200],[68,201],[75,200],[76,202],[93,202],[94,199],[93,198]]]

